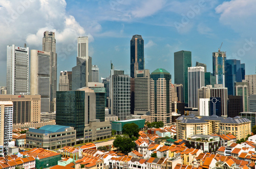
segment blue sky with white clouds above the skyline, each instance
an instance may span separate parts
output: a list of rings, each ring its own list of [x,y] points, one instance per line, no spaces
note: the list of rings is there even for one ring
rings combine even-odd
[[[164,68],[174,79],[179,50],[190,50],[192,65],[205,63],[212,72],[212,52],[223,42],[227,59],[240,59],[246,74],[255,73],[255,0],[0,0],[0,6],[0,86],[6,85],[6,46],[41,49],[46,30],[56,32],[58,72],[71,71],[77,37],[89,36],[89,55],[101,77],[109,76],[110,61],[130,74],[130,40],[139,34],[151,72]]]

